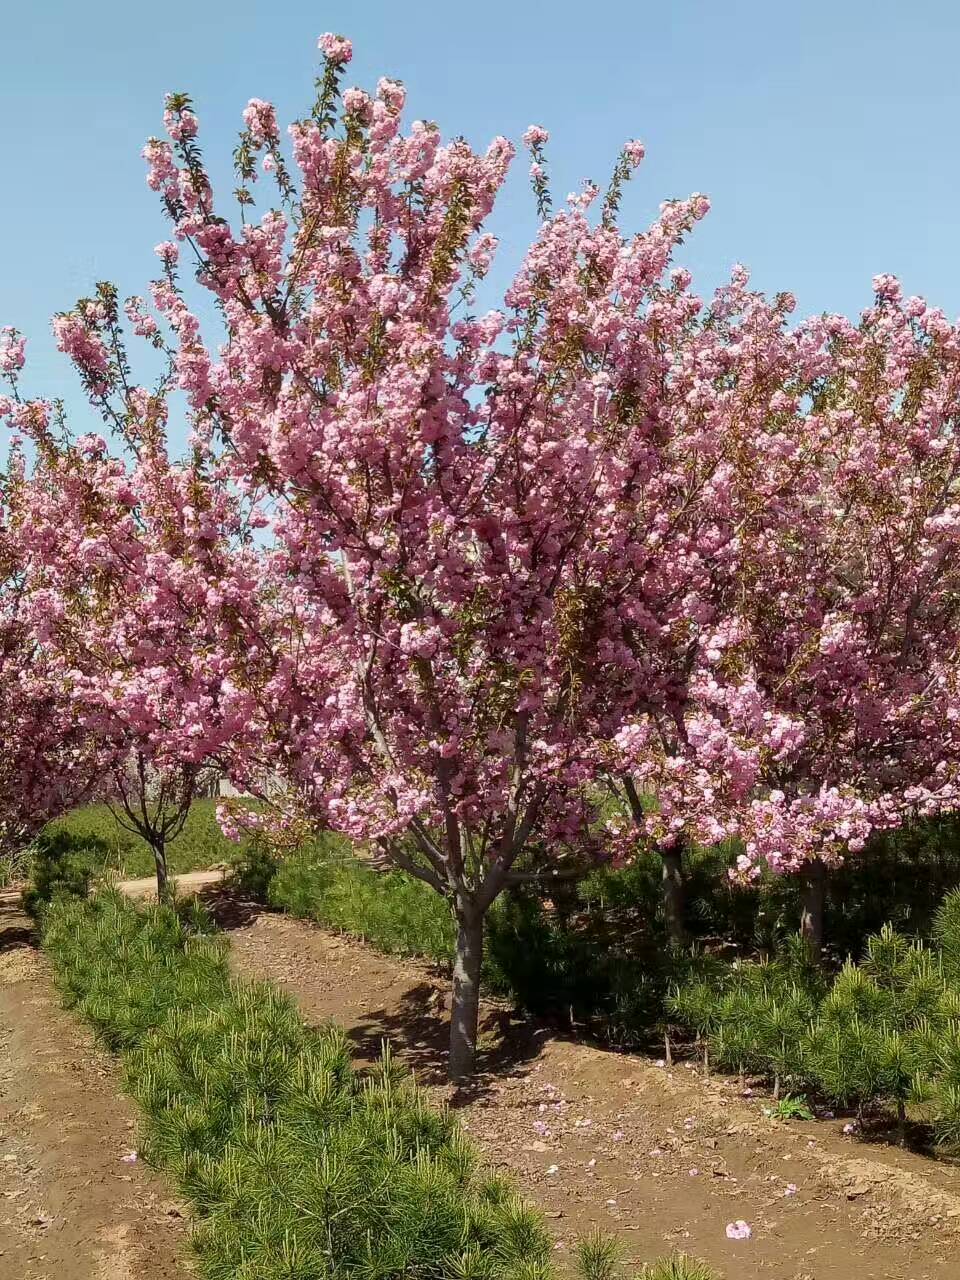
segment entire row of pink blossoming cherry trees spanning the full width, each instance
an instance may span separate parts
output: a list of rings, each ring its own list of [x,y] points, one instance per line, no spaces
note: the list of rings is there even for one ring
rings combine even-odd
[[[456,1078],[509,884],[653,845],[678,937],[690,842],[815,887],[957,806],[960,330],[891,276],[858,320],[742,268],[700,297],[708,201],[622,232],[628,142],[554,207],[539,127],[541,225],[480,314],[513,146],[404,127],[320,44],[285,138],[243,113],[233,220],[168,100],[148,301],[54,320],[105,434],[3,330],[0,819],[108,791],[161,892],[211,771],[262,801],[228,829],[362,842],[453,909]]]

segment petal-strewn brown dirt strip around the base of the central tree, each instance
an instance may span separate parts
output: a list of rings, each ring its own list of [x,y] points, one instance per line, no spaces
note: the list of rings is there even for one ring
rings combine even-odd
[[[342,1023],[361,1059],[388,1037],[448,1094],[443,984],[428,968],[255,911],[233,955],[308,1018]],[[559,1251],[596,1224],[639,1261],[685,1249],[727,1280],[960,1280],[959,1170],[844,1137],[840,1121],[773,1121],[735,1084],[553,1039],[506,1010],[486,1010],[484,1041],[480,1083],[453,1103],[544,1206]],[[726,1238],[737,1219],[750,1239]]]

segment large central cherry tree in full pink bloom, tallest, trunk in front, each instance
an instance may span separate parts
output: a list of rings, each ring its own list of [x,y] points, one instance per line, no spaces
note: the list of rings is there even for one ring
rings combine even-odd
[[[236,230],[189,100],[168,101],[169,141],[146,151],[174,225],[154,301],[195,433],[238,490],[276,503],[271,572],[297,639],[261,690],[274,768],[451,902],[460,1078],[488,908],[595,847],[599,744],[625,707],[663,703],[695,644],[700,543],[724,535],[675,517],[721,499],[727,424],[675,412],[700,381],[701,301],[671,256],[707,201],[625,237],[631,142],[603,196],[586,184],[554,212],[531,128],[543,227],[503,306],[472,315],[513,147],[403,132],[402,86],[342,91],[351,46],[321,47],[292,163],[273,108],[244,111]],[[275,207],[255,219],[264,174]],[[186,308],[184,255],[220,308],[219,351]]]

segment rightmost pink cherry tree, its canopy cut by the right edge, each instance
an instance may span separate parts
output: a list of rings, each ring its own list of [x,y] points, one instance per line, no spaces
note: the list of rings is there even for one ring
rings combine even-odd
[[[765,429],[777,509],[744,522],[717,648],[763,744],[740,872],[804,872],[814,945],[824,868],[960,795],[960,332],[891,276],[874,291],[859,324],[786,335]]]

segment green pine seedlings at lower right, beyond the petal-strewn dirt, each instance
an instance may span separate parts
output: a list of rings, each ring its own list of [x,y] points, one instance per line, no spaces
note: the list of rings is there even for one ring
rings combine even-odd
[[[915,1119],[960,1152],[960,891],[931,946],[886,925],[832,979],[799,937],[764,961],[700,956],[667,1010],[705,1066],[762,1078],[781,1114],[803,1114],[788,1106],[803,1089],[855,1111],[854,1125],[890,1121],[904,1143]]]

